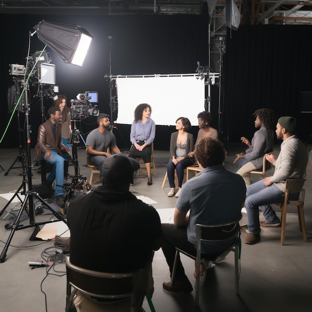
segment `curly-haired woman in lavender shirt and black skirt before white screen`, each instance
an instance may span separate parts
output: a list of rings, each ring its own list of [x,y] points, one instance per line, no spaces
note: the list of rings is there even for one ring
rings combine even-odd
[[[132,143],[130,156],[142,157],[148,171],[148,185],[152,185],[151,144],[155,139],[155,122],[151,119],[152,107],[143,103],[135,109],[135,120],[131,125],[130,141]]]

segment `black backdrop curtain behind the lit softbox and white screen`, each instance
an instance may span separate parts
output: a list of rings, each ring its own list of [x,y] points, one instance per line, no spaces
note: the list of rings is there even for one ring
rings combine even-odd
[[[8,74],[10,63],[25,64],[29,30],[40,20],[78,24],[94,37],[83,67],[65,64],[53,51],[52,64],[56,65],[56,84],[59,93],[74,99],[84,91],[99,92],[99,108],[103,113],[110,114],[109,82],[105,75],[110,73],[109,51],[111,50],[111,69],[113,75],[140,74],[176,74],[193,73],[196,62],[207,64],[207,16],[191,15],[124,15],[124,16],[78,16],[78,15],[23,15],[0,14],[0,105],[3,114],[0,115],[1,134],[8,122],[7,87],[11,77]],[[5,31],[4,31],[5,29]],[[112,37],[112,40],[109,39]],[[44,44],[36,35],[30,40],[30,53],[42,50]],[[31,86],[35,89],[36,86]],[[34,90],[35,91],[35,90]],[[40,100],[31,95],[31,125],[33,129],[32,146],[35,145],[37,129],[41,123]],[[44,99],[45,112],[52,105],[51,99]],[[140,103],[138,103],[140,104]],[[178,103],[172,103],[178,109]],[[191,103],[190,103],[191,105]],[[204,108],[204,99],[203,99]],[[194,112],[197,115],[198,112]],[[115,113],[114,113],[115,114]],[[165,114],[165,112],[164,112]],[[153,116],[152,116],[153,117]],[[175,120],[179,117],[172,118]],[[0,148],[17,147],[17,122],[13,118],[8,134]],[[111,118],[115,120],[114,116]],[[84,134],[96,128],[95,118],[78,123],[78,128]],[[130,146],[130,126],[118,125],[116,131],[117,143],[120,148]],[[194,132],[197,133],[197,129]],[[170,133],[174,127],[157,126],[155,149],[168,150]],[[163,138],[167,138],[164,140]]]

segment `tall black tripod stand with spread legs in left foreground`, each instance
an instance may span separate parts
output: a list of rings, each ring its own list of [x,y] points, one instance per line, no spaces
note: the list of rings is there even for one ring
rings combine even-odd
[[[29,79],[30,76],[28,76]],[[28,83],[28,79],[25,83],[24,89],[22,91],[22,93],[25,91],[27,83]],[[14,198],[15,196],[18,196],[18,192],[19,190],[21,190],[21,188],[23,188],[23,191],[21,192],[22,195],[25,195],[25,198],[22,202],[21,208],[17,214],[16,219],[14,220],[13,224],[12,224],[12,228],[11,228],[11,232],[9,234],[9,237],[6,241],[6,244],[0,254],[0,262],[4,262],[5,257],[6,257],[6,252],[8,249],[8,246],[10,245],[10,242],[13,238],[13,235],[15,233],[15,231],[17,230],[21,230],[21,229],[25,229],[28,227],[33,227],[33,226],[39,226],[42,224],[47,224],[47,223],[52,223],[55,221],[63,221],[64,223],[67,224],[67,221],[63,218],[63,216],[55,211],[52,207],[50,207],[40,196],[37,192],[35,192],[33,190],[32,187],[32,180],[31,180],[31,156],[30,156],[30,133],[31,133],[31,125],[29,124],[29,114],[30,114],[30,106],[28,104],[28,97],[27,97],[27,92],[25,92],[25,117],[26,117],[26,131],[27,131],[27,148],[26,148],[26,160],[24,162],[23,165],[23,181],[22,181],[22,185],[18,188],[18,190],[15,192],[15,194],[13,195],[12,198]],[[24,159],[24,158],[23,158]],[[26,183],[28,185],[28,189],[26,188]],[[57,220],[49,220],[49,221],[42,221],[42,222],[37,222],[35,220],[35,206],[34,206],[34,199],[38,199],[48,210],[50,210],[52,212],[52,214],[57,218]],[[12,200],[12,199],[11,199]],[[29,215],[29,224],[26,225],[21,225],[19,226],[19,220],[20,217],[23,213],[23,211],[28,207],[27,213]],[[0,216],[2,215],[2,213],[4,212],[6,206],[0,211]]]

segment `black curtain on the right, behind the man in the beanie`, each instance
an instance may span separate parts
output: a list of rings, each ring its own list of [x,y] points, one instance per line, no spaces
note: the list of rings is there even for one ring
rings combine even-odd
[[[251,139],[258,108],[273,109],[277,118],[296,117],[298,135],[307,139],[312,114],[301,113],[301,92],[312,91],[311,26],[241,25],[228,34],[223,60],[231,142]]]

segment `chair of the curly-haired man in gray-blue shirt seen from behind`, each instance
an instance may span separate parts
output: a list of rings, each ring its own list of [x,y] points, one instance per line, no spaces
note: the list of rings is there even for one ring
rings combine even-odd
[[[234,243],[229,247],[228,251],[234,251],[234,265],[235,265],[235,292],[236,295],[239,294],[239,261],[240,261],[240,227],[239,220],[216,225],[203,225],[196,224],[196,256],[190,255],[185,251],[175,248],[175,258],[171,274],[171,285],[175,282],[175,271],[177,260],[179,259],[179,253],[196,261],[196,272],[198,274],[195,282],[195,304],[199,305],[199,273],[200,265],[207,267],[208,262],[214,263],[217,259],[209,259],[209,255],[203,255],[201,253],[201,243],[202,242],[226,242],[233,241]]]

